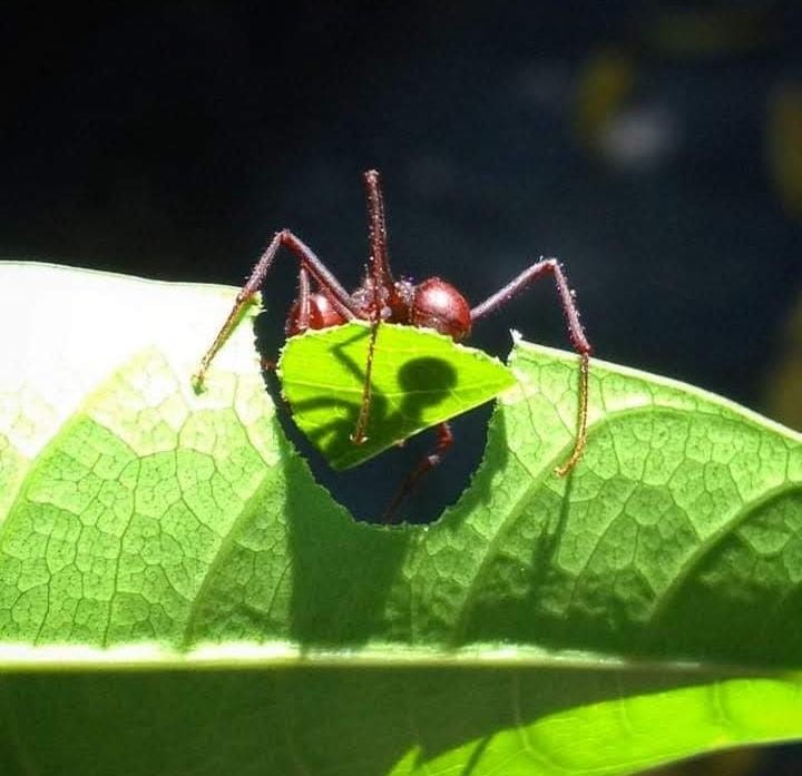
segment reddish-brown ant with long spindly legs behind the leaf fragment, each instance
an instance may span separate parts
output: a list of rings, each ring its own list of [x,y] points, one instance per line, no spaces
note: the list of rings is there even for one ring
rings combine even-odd
[[[368,195],[368,228],[371,252],[369,268],[362,285],[353,294],[349,294],[323,262],[301,239],[288,229],[282,229],[275,234],[267,249],[254,266],[251,277],[237,294],[228,317],[200,361],[200,366],[195,374],[195,384],[198,386],[203,384],[212,358],[214,358],[232,328],[236,325],[245,305],[262,287],[282,245],[290,248],[300,264],[299,296],[287,314],[286,336],[294,336],[310,328],[339,326],[349,321],[368,321],[372,325],[362,402],[356,425],[351,435],[354,444],[361,444],[365,440],[371,404],[373,353],[376,333],[381,323],[401,323],[410,326],[433,328],[459,342],[470,334],[476,321],[501,307],[536,279],[544,275],[551,275],[568,325],[568,335],[574,348],[579,354],[579,402],[576,440],[568,459],[556,469],[560,475],[570,472],[581,458],[587,440],[588,367],[591,347],[579,322],[579,311],[576,306],[574,293],[568,286],[568,281],[559,262],[555,258],[541,258],[475,307],[468,304],[464,296],[457,288],[439,277],[430,277],[418,284],[404,278],[395,279],[390,271],[388,259],[384,200],[379,173],[368,170],[364,174],[364,184]],[[311,288],[311,281],[316,286],[314,292]],[[453,442],[448,423],[438,425],[437,436],[437,444],[432,451],[402,483],[397,497],[384,514],[385,521],[391,521],[399,504],[420,478],[440,463],[442,455]]]

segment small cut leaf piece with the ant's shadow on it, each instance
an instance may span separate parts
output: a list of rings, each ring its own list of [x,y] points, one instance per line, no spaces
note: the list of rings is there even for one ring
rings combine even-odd
[[[515,384],[497,358],[450,337],[383,324],[374,348],[366,441],[351,435],[360,414],[369,325],[309,332],[278,362],[293,420],[333,469],[350,469],[437,423],[489,402]]]

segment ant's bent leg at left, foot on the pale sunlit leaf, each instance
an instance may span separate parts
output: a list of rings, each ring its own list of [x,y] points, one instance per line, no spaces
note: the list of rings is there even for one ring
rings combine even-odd
[[[306,285],[309,286],[309,276],[314,278],[317,285],[325,291],[332,305],[344,320],[353,321],[354,318],[363,317],[355,308],[351,295],[342,287],[340,282],[336,277],[334,277],[323,262],[315,256],[312,249],[299,239],[292,232],[288,229],[282,229],[275,234],[266,251],[262,254],[258,262],[256,262],[251,276],[237,294],[234,306],[228,313],[228,316],[223,323],[217,336],[214,338],[212,346],[206,351],[206,353],[204,353],[204,356],[200,360],[200,365],[197,372],[193,375],[193,383],[195,384],[196,391],[203,389],[206,372],[212,363],[212,360],[215,357],[219,348],[223,346],[223,343],[228,338],[232,331],[239,322],[245,307],[250,304],[254,294],[262,287],[267,273],[273,267],[276,253],[282,245],[286,246],[295,255],[295,258],[301,264],[301,273],[307,273]],[[306,294],[306,310],[309,311],[309,292]]]

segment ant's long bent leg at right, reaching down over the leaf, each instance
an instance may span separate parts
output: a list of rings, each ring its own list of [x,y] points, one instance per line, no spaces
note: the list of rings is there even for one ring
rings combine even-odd
[[[577,434],[574,442],[574,450],[568,460],[555,470],[560,477],[568,474],[577,464],[587,444],[587,416],[588,416],[588,373],[590,367],[590,354],[593,347],[585,336],[585,330],[579,322],[579,310],[576,305],[574,292],[568,285],[568,279],[563,267],[556,258],[544,258],[525,269],[518,277],[512,278],[503,288],[489,296],[485,302],[471,310],[471,323],[485,317],[488,313],[501,307],[514,296],[525,291],[535,281],[544,275],[551,275],[557,285],[557,294],[560,298],[560,306],[568,325],[568,336],[574,350],[579,354],[579,402],[577,409]]]

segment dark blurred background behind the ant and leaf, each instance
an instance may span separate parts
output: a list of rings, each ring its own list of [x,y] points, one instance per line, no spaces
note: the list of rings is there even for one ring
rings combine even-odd
[[[239,285],[286,226],[353,286],[361,171],[376,167],[398,274],[441,275],[478,302],[558,256],[599,357],[802,428],[799,4],[26,8],[0,20],[4,257]],[[294,278],[287,255],[265,297],[276,341]],[[510,327],[568,347],[549,282],[473,344],[505,355]],[[488,412],[456,424],[405,518],[457,498]],[[345,475],[304,451],[370,518],[430,445]],[[801,762],[779,749],[694,767]]]

